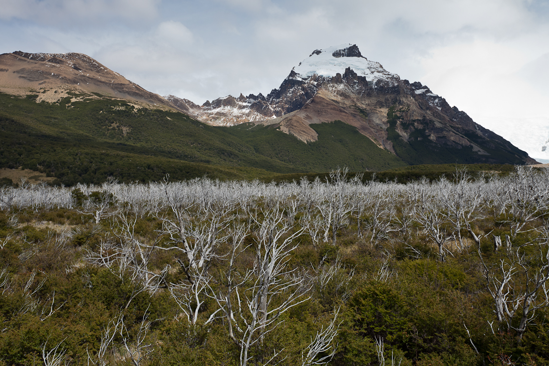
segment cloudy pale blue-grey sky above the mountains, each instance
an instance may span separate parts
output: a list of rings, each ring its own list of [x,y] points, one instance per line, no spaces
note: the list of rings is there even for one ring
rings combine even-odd
[[[0,53],[85,53],[197,104],[356,44],[549,161],[549,0],[0,0],[0,34]]]

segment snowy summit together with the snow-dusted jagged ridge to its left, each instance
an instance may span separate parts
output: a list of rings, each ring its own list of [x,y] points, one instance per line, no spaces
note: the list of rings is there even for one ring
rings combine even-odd
[[[238,98],[226,96],[206,101],[199,108],[185,108],[188,101],[180,103],[181,110],[195,115],[201,121],[214,125],[236,125],[250,121],[269,120],[294,112],[309,103],[322,88],[348,89],[352,93],[365,93],[379,87],[395,87],[400,77],[391,74],[377,62],[362,56],[356,45],[347,43],[316,49],[309,58],[294,67],[282,84],[267,96],[253,94]]]

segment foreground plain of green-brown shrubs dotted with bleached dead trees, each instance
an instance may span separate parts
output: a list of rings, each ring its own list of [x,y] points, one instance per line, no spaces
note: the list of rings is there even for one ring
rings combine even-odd
[[[474,176],[4,186],[0,364],[547,365],[549,171]]]

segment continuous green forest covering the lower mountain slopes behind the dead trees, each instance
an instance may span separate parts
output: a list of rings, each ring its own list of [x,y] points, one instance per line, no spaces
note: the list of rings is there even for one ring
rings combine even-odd
[[[0,168],[40,171],[55,178],[54,184],[65,186],[102,184],[109,176],[120,182],[147,183],[166,174],[176,180],[208,176],[281,181],[287,179],[282,175],[325,176],[323,172],[344,166],[351,171],[389,171],[378,173],[378,178],[406,181],[426,171],[436,178],[454,167],[399,170],[406,165],[472,164],[478,155],[431,146],[428,138],[401,140],[395,130],[401,121],[393,109],[388,113],[388,133],[397,156],[341,121],[311,125],[318,141],[304,143],[276,125],[213,127],[183,113],[97,96],[72,94],[58,103],[36,103],[37,95],[20,98],[0,93]],[[494,143],[490,153],[495,161],[517,163]],[[484,170],[496,171],[511,167],[484,165]],[[469,169],[481,170],[473,165]],[[365,176],[371,178],[372,173]]]

